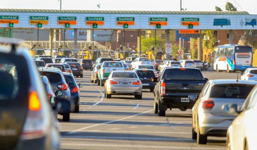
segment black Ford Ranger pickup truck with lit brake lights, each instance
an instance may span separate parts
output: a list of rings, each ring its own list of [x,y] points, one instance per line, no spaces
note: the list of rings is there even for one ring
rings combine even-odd
[[[165,116],[167,108],[192,109],[207,81],[197,68],[166,68],[154,88],[154,113]]]

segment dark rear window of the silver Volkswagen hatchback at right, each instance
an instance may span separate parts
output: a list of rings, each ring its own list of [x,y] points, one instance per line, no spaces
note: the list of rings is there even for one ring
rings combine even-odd
[[[249,84],[214,85],[210,98],[246,98],[253,87]]]

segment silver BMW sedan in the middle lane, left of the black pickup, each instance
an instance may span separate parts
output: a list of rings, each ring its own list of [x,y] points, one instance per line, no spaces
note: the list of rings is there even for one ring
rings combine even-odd
[[[112,71],[105,81],[105,97],[112,95],[134,95],[137,99],[142,99],[142,83],[136,72],[132,71]]]

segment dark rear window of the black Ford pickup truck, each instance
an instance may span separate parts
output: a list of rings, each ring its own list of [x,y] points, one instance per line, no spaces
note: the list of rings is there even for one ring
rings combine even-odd
[[[203,76],[198,69],[166,69],[162,79],[170,80],[203,80]]]

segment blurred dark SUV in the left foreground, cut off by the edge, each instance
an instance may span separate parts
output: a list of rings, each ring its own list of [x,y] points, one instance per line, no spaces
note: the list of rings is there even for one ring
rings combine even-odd
[[[60,149],[37,66],[28,50],[16,47],[0,38],[0,149]]]

